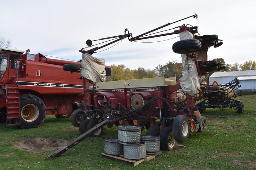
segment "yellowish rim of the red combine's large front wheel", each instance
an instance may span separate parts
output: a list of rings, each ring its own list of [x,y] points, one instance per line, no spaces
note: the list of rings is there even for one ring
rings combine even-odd
[[[34,104],[27,104],[21,110],[21,117],[26,122],[33,122],[39,116],[39,109]]]

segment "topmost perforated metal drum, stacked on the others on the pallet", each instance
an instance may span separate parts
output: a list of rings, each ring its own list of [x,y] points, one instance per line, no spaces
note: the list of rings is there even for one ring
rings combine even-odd
[[[135,125],[119,125],[118,126],[118,142],[124,145],[140,144],[140,126]]]

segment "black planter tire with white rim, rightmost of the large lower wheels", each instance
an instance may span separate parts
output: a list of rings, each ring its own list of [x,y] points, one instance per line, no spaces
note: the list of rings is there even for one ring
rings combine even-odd
[[[188,118],[184,115],[175,117],[172,123],[172,133],[177,142],[186,142],[190,132]]]

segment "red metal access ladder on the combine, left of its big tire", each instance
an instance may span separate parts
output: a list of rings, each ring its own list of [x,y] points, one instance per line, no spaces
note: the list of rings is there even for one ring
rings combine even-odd
[[[20,118],[20,92],[19,85],[6,85],[6,113],[7,119]],[[20,125],[20,123],[8,124],[8,126]]]

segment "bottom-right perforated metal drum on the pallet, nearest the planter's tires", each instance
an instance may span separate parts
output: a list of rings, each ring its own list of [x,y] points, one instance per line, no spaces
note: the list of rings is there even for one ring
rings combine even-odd
[[[160,151],[160,137],[158,136],[141,136],[141,142],[147,144],[147,153],[154,154],[155,152]]]

